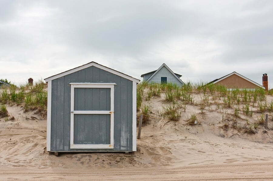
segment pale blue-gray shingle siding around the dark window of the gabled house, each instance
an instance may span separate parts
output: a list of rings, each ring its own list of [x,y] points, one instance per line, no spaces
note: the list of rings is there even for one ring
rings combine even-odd
[[[144,76],[144,80],[148,80],[150,76],[153,75],[147,74]],[[149,82],[161,83],[161,77],[167,77],[167,82],[175,83],[177,85],[183,85],[177,78],[165,67],[163,66],[150,80]]]

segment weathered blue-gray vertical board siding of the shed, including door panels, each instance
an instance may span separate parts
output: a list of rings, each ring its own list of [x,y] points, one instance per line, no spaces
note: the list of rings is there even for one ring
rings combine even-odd
[[[114,88],[113,149],[70,149],[71,82],[117,84]],[[132,151],[132,89],[132,81],[94,66],[52,80],[51,151]],[[110,110],[108,89],[76,88],[74,100],[75,110]],[[110,115],[77,115],[74,131],[75,143],[110,144]]]

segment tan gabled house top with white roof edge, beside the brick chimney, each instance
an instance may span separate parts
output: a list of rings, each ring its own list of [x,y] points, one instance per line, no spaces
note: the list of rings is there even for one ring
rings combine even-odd
[[[259,87],[265,89],[262,85],[238,74],[237,72],[232,72],[209,83],[225,85],[228,89],[256,89]]]

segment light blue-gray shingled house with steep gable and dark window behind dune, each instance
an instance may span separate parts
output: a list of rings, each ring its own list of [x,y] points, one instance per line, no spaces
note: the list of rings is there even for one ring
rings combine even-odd
[[[184,85],[184,82],[180,79],[182,75],[174,73],[165,63],[163,63],[157,70],[142,74],[143,81],[150,83],[173,83],[176,85]]]

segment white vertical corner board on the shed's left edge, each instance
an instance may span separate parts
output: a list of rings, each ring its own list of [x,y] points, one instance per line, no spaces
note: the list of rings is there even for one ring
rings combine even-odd
[[[51,146],[51,91],[52,82],[47,82],[47,120],[46,120],[46,151],[50,151]]]

